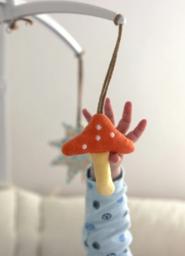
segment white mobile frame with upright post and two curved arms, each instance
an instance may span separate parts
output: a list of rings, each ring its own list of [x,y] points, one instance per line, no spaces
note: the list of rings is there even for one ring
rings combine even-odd
[[[33,16],[43,23],[57,36],[60,37],[74,51],[75,54],[83,52],[77,41],[48,13],[75,13],[90,15],[107,20],[114,20],[116,12],[91,4],[71,1],[37,1],[26,2],[24,0],[0,0],[0,181],[11,181],[11,166],[9,164],[10,148],[8,148],[8,122],[7,122],[7,93],[8,84],[4,77],[5,44],[4,26],[2,23],[10,23],[14,19]],[[124,24],[126,19],[121,16],[117,23]]]

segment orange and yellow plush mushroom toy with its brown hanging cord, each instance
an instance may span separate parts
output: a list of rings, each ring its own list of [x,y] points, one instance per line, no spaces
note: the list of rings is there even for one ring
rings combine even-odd
[[[117,14],[114,23],[120,18]],[[114,192],[114,183],[111,177],[109,153],[129,154],[134,151],[134,144],[124,137],[111,123],[110,119],[103,114],[104,102],[108,85],[110,84],[116,63],[118,49],[121,41],[123,25],[119,25],[118,38],[107,74],[102,86],[95,114],[84,131],[62,146],[62,152],[66,156],[90,153],[95,169],[97,190],[101,195],[108,196]]]

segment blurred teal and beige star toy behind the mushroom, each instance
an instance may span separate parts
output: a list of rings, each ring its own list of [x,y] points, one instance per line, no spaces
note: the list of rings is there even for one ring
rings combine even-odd
[[[67,125],[65,123],[62,123],[62,126],[65,129],[65,137],[63,139],[51,141],[49,143],[52,147],[58,148],[60,150],[60,155],[53,159],[51,164],[53,166],[67,166],[67,183],[70,183],[74,176],[78,173],[81,173],[82,180],[84,181],[86,170],[91,164],[90,155],[85,154],[68,157],[63,155],[61,151],[62,145],[80,134],[83,131],[84,127],[73,127],[72,125]]]

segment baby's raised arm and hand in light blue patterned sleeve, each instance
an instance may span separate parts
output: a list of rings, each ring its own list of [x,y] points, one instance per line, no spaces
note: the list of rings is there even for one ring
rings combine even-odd
[[[106,99],[105,115],[115,124],[111,102]],[[91,115],[83,111],[87,121]],[[127,133],[132,118],[132,104],[127,102],[124,106],[122,118],[117,129]],[[146,120],[142,120],[127,138],[136,142],[146,127]],[[86,212],[83,227],[83,242],[87,249],[87,256],[131,256],[129,245],[132,235],[129,231],[131,221],[127,204],[127,185],[124,182],[124,170],[121,162],[124,155],[110,152],[110,166],[115,191],[110,196],[102,196],[97,192],[96,178],[93,166],[87,171],[86,183]]]

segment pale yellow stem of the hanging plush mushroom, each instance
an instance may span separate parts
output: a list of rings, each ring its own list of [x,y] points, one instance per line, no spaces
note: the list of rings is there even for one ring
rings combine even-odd
[[[109,164],[109,152],[91,154],[95,169],[96,185],[101,195],[111,195],[114,190],[114,183],[111,177]]]

